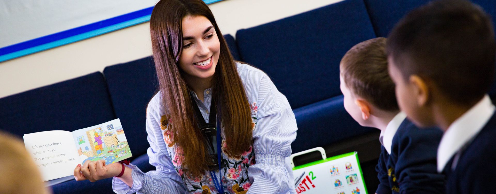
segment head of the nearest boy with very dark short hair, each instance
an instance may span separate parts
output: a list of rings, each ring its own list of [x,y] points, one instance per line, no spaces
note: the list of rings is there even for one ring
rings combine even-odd
[[[469,1],[437,0],[413,10],[394,27],[386,50],[398,104],[422,127],[436,125],[439,106],[472,107],[493,83],[493,25]]]

